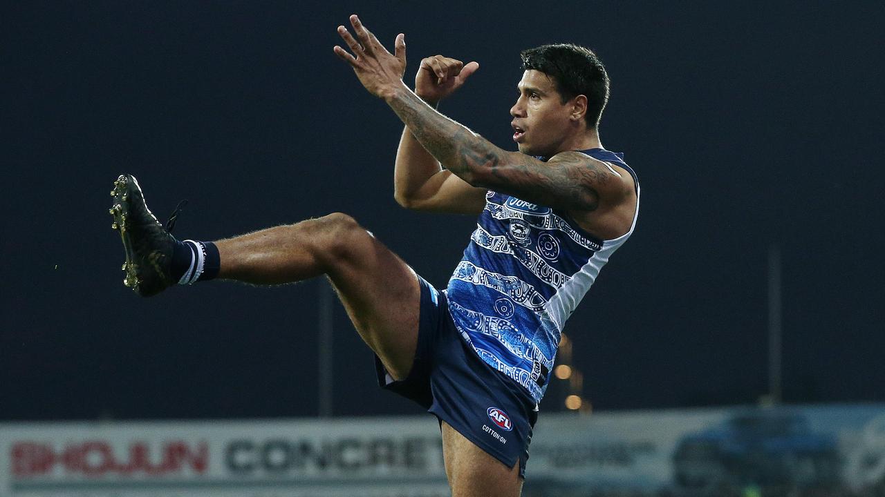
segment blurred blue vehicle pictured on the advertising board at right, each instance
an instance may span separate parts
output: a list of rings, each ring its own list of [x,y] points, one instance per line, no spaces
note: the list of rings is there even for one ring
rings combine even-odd
[[[766,410],[737,414],[690,433],[673,453],[674,482],[690,494],[758,487],[828,488],[839,483],[835,438],[807,420]]]

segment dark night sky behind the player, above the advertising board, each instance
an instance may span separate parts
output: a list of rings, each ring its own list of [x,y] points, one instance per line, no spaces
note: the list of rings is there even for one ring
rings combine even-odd
[[[643,198],[566,326],[596,409],[756,401],[772,244],[786,400],[885,401],[881,2],[84,5],[0,16],[0,419],[317,413],[319,281],[136,297],[106,213],[121,172],[159,218],[189,199],[182,237],[340,210],[445,286],[473,218],[394,203],[401,125],[332,53],[353,11],[406,34],[409,81],[428,55],[480,62],[442,111],[506,149],[519,50],[604,60],[602,140]],[[375,388],[340,306],[335,332],[336,414],[418,412]]]

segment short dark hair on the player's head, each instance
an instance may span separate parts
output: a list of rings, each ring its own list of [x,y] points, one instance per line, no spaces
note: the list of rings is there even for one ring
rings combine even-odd
[[[572,43],[553,43],[522,50],[522,68],[547,74],[566,103],[575,96],[587,96],[587,127],[599,126],[608,103],[608,73],[593,50]]]

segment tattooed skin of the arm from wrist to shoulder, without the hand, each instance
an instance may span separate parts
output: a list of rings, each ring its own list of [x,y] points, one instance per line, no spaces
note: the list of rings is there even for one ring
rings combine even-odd
[[[430,155],[474,187],[554,208],[596,210],[597,187],[612,180],[602,163],[578,152],[559,154],[544,164],[500,149],[407,89],[389,98],[388,104]]]

